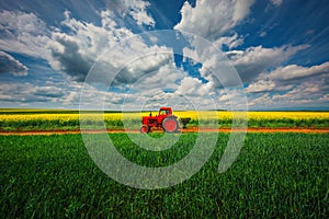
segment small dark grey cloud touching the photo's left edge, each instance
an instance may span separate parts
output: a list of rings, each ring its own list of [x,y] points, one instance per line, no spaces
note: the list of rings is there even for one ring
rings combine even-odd
[[[0,51],[0,73],[27,76],[27,67],[14,59],[11,55]]]

